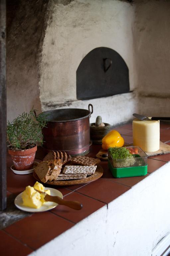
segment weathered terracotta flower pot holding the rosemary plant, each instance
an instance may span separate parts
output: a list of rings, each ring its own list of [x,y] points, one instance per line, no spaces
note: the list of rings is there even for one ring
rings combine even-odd
[[[37,145],[34,148],[25,150],[8,149],[8,153],[11,155],[15,168],[18,171],[29,170],[33,167],[36,151]]]

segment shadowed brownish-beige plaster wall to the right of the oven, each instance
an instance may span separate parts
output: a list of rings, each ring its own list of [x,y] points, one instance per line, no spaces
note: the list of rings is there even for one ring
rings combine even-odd
[[[133,46],[139,112],[169,116],[170,1],[134,2]]]

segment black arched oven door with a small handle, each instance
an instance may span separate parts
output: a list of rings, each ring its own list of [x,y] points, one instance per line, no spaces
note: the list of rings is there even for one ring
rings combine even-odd
[[[77,99],[95,99],[127,92],[128,66],[118,52],[98,47],[83,58],[76,71]]]

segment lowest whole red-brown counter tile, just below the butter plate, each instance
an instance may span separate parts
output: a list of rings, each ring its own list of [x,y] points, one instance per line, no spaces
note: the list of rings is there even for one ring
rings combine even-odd
[[[73,225],[51,212],[42,212],[24,218],[4,230],[22,243],[38,249]]]

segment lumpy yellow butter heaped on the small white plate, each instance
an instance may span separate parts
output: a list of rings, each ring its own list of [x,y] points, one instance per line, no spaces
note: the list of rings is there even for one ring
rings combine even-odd
[[[27,186],[24,192],[22,193],[23,205],[29,206],[32,208],[40,208],[43,203],[45,203],[44,195],[40,194],[35,189],[45,192],[50,195],[50,190],[45,190],[45,187],[38,181],[34,184],[34,187]]]

